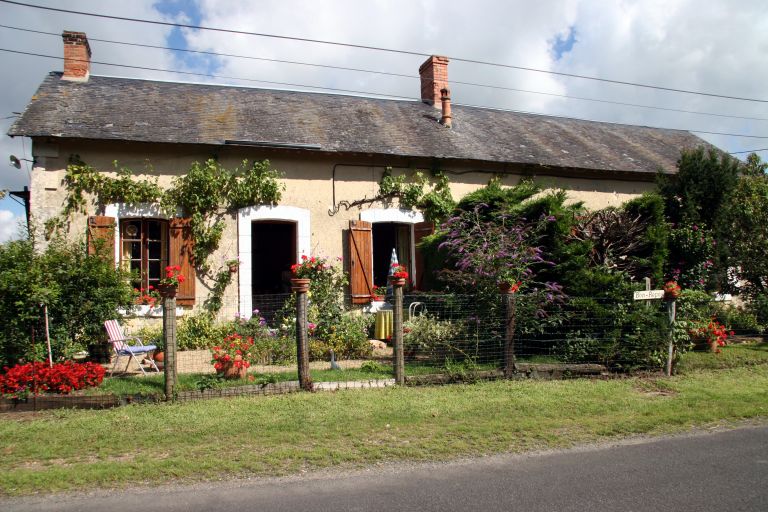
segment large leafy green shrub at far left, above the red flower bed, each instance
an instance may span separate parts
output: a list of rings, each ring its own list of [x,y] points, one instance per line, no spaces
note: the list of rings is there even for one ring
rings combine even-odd
[[[104,321],[131,305],[131,292],[128,276],[112,260],[89,255],[85,242],[55,239],[43,252],[34,238],[0,244],[0,366],[45,353],[41,304],[58,360],[105,338]]]

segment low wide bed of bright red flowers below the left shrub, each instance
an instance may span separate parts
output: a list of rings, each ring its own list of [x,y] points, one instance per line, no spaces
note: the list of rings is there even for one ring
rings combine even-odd
[[[26,398],[29,394],[68,394],[86,387],[96,387],[104,380],[106,370],[96,363],[46,363],[18,364],[5,367],[0,375],[0,395],[9,398]]]

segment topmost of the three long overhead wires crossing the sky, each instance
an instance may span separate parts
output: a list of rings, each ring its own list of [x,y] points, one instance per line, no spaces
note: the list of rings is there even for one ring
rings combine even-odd
[[[284,40],[290,40],[290,41],[299,41],[304,43],[314,43],[314,44],[324,44],[324,45],[330,45],[330,46],[343,46],[347,48],[356,48],[361,50],[372,50],[372,51],[380,51],[380,52],[388,52],[388,53],[396,53],[401,55],[413,55],[413,56],[419,56],[419,57],[429,57],[431,54],[419,52],[419,51],[410,51],[410,50],[398,50],[393,48],[383,48],[379,46],[368,46],[368,45],[361,45],[361,44],[352,44],[352,43],[341,43],[338,41],[328,41],[324,39],[311,39],[307,37],[295,37],[295,36],[283,36],[278,34],[268,34],[264,32],[250,32],[246,30],[234,30],[234,29],[225,29],[225,28],[218,28],[218,27],[206,27],[202,25],[191,25],[186,23],[172,23],[169,21],[160,21],[160,20],[147,20],[142,18],[130,18],[126,16],[112,16],[108,14],[98,14],[98,13],[92,13],[92,12],[84,12],[84,11],[73,11],[70,9],[60,9],[57,7],[47,7],[42,5],[34,5],[34,4],[27,4],[24,2],[15,2],[12,0],[0,0],[2,3],[11,4],[11,5],[18,5],[21,7],[30,7],[34,9],[42,9],[46,11],[52,11],[52,12],[61,12],[61,13],[67,13],[67,14],[76,14],[80,16],[91,16],[96,18],[103,18],[103,19],[112,19],[112,20],[118,20],[118,21],[130,21],[135,23],[147,23],[152,25],[161,25],[161,26],[167,26],[167,27],[177,27],[177,28],[188,28],[193,30],[209,30],[212,32],[223,32],[227,34],[240,34],[240,35],[248,35],[248,36],[256,36],[256,37],[268,37],[273,39],[284,39]],[[517,69],[521,71],[531,71],[535,73],[546,73],[550,75],[557,75],[557,76],[565,76],[570,78],[579,78],[583,80],[592,80],[597,82],[603,82],[603,83],[612,83],[617,85],[630,85],[634,87],[642,87],[646,89],[655,89],[660,91],[668,91],[668,92],[676,92],[676,93],[682,93],[682,94],[695,94],[699,96],[709,96],[712,98],[723,98],[723,99],[729,99],[729,100],[737,100],[737,101],[749,101],[749,102],[756,102],[756,103],[768,103],[768,100],[766,99],[759,99],[759,98],[745,98],[741,96],[731,96],[726,94],[717,94],[717,93],[711,93],[711,92],[703,92],[703,91],[692,91],[688,89],[679,89],[674,87],[665,87],[660,85],[650,85],[650,84],[642,84],[638,82],[628,82],[624,80],[614,80],[609,78],[600,78],[595,76],[588,76],[588,75],[579,75],[575,73],[565,73],[561,71],[552,71],[547,69],[538,69],[538,68],[531,68],[526,66],[515,66],[512,64],[502,64],[498,62],[490,62],[490,61],[482,61],[477,59],[468,59],[468,58],[462,58],[462,57],[455,57],[455,56],[449,56],[450,59],[457,61],[457,62],[466,62],[470,64],[480,64],[484,66],[494,66],[494,67],[500,67],[500,68],[507,68],[507,69]]]

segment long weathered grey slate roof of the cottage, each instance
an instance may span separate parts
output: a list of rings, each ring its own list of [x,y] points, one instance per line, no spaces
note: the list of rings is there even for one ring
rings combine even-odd
[[[224,144],[319,145],[323,152],[462,159],[632,173],[674,171],[689,132],[296,91],[50,73],[9,135]]]

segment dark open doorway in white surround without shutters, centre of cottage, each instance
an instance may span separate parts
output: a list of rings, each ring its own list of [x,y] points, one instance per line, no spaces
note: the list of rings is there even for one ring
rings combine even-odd
[[[290,292],[291,265],[296,263],[296,223],[254,222],[251,237],[251,293]]]

